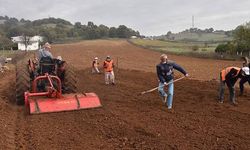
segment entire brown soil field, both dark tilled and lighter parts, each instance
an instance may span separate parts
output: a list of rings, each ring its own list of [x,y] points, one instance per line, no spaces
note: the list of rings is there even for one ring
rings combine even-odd
[[[0,149],[250,148],[249,90],[238,98],[237,107],[228,99],[218,104],[218,83],[213,80],[218,70],[240,62],[170,56],[192,79],[175,84],[174,109],[167,111],[157,92],[139,95],[157,85],[154,69],[160,53],[104,40],[56,45],[53,53],[78,68],[80,91],[97,93],[103,107],[27,115],[10,102],[15,72],[1,74]],[[105,55],[119,57],[115,86],[90,73],[91,59]]]

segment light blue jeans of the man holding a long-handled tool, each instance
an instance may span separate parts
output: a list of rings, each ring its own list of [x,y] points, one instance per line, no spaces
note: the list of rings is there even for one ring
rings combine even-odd
[[[169,82],[173,82],[173,80],[171,80]],[[159,91],[162,98],[164,98],[166,96],[168,97],[167,106],[168,106],[168,109],[171,109],[172,103],[173,103],[173,96],[174,96],[174,83],[170,83],[168,85],[168,94],[165,92],[164,84],[161,82],[159,83],[158,91]]]

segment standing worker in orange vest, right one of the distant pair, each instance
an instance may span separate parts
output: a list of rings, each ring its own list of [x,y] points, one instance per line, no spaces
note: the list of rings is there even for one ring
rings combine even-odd
[[[107,56],[103,63],[103,68],[105,72],[105,83],[115,85],[115,75],[114,75],[114,61],[110,56]]]

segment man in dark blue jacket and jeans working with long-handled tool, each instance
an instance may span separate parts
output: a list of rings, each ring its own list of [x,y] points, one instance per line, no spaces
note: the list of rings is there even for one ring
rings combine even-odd
[[[163,99],[163,103],[167,104],[168,109],[172,109],[173,103],[173,96],[174,96],[174,72],[173,70],[176,69],[183,73],[186,77],[188,76],[187,72],[176,63],[169,61],[168,56],[166,54],[162,54],[160,57],[161,63],[156,66],[157,75],[159,78],[159,87],[158,91]],[[164,91],[164,86],[168,85],[168,94]]]

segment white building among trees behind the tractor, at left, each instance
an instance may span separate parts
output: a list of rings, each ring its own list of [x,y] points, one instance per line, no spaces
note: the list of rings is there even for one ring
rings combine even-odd
[[[18,50],[26,50],[25,41],[27,43],[27,50],[38,50],[40,48],[40,43],[43,41],[41,36],[26,37],[16,36],[11,38],[12,42],[17,43]]]

